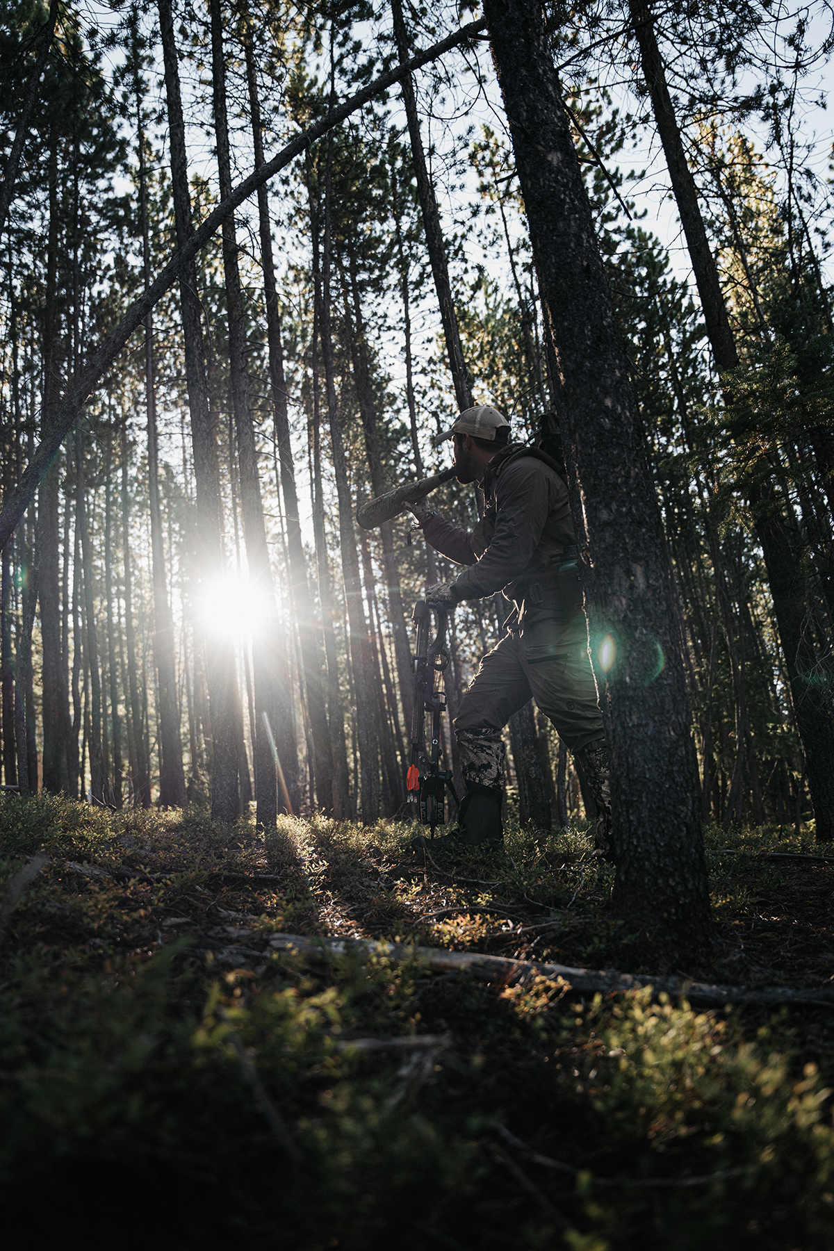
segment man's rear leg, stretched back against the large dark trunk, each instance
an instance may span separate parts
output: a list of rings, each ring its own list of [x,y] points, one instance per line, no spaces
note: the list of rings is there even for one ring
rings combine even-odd
[[[613,859],[608,747],[584,613],[569,623],[558,617],[534,620],[521,638],[521,663],[536,704],[578,759],[596,801],[596,851]]]

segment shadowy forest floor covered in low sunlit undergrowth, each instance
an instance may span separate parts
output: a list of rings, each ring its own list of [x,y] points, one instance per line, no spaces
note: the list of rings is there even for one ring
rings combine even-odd
[[[834,1011],[485,985],[278,933],[658,973],[581,828],[451,864],[413,827],[0,799],[5,1245],[834,1245]],[[723,985],[834,981],[834,847],[706,831]],[[9,883],[46,862],[10,911]],[[773,853],[830,856],[765,858]],[[34,867],[34,864],[33,864]]]

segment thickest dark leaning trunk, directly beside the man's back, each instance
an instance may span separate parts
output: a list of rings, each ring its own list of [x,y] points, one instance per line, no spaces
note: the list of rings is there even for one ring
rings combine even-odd
[[[536,0],[486,0],[563,383],[571,503],[618,849],[614,904],[673,948],[709,936],[698,769],[660,510],[588,195]],[[611,664],[615,648],[615,659]]]

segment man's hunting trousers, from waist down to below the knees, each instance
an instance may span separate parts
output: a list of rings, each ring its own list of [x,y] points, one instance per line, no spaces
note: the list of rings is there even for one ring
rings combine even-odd
[[[604,741],[583,613],[568,623],[531,615],[523,634],[508,634],[483,657],[455,717],[464,782],[504,784],[501,729],[530,698],[570,752]]]

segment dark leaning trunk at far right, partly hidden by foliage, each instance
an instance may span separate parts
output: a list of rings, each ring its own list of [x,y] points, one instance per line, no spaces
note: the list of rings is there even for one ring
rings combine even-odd
[[[715,258],[706,239],[698,188],[686,164],[680,128],[675,118],[653,15],[645,0],[631,0],[634,30],[640,45],[643,73],[663,144],[675,203],[686,235],[698,294],[715,365],[720,373],[738,368],[739,355],[733,338]],[[726,393],[733,404],[731,384]],[[814,646],[806,629],[809,604],[801,564],[790,542],[790,533],[773,485],[773,474],[761,460],[755,480],[746,488],[756,538],[761,544],[779,642],[785,657],[790,696],[808,768],[808,789],[816,818],[820,842],[834,838],[834,722],[824,696],[814,682]]]

